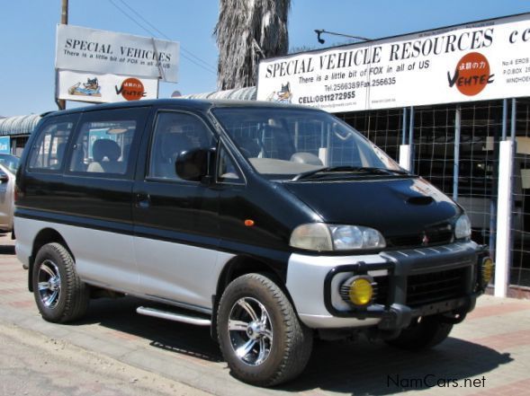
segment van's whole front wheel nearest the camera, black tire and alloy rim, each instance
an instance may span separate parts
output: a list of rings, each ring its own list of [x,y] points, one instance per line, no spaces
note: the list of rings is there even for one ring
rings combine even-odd
[[[301,374],[312,349],[312,332],[269,277],[247,274],[224,291],[217,315],[220,350],[231,373],[258,386]]]

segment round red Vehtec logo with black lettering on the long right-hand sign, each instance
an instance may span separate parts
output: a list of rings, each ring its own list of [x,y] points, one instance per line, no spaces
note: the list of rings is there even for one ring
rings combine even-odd
[[[486,85],[493,83],[490,75],[490,62],[480,52],[470,52],[464,55],[454,68],[454,76],[447,72],[449,87],[456,85],[458,91],[466,96],[474,96]]]

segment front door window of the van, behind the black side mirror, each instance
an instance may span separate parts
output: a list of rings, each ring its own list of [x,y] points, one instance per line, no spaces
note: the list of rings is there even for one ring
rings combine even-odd
[[[184,151],[210,148],[215,138],[210,129],[196,116],[179,112],[161,112],[151,138],[148,177],[180,180],[175,160]]]

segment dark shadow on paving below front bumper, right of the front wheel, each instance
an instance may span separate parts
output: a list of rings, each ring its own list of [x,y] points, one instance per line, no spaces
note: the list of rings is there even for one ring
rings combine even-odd
[[[483,376],[487,384],[489,373],[511,360],[509,354],[454,338],[421,353],[368,341],[319,342],[301,379],[287,384],[283,390],[301,392],[319,388],[355,395],[387,395],[436,385],[459,387],[462,382],[457,381],[475,376]],[[477,392],[481,390],[478,387]]]

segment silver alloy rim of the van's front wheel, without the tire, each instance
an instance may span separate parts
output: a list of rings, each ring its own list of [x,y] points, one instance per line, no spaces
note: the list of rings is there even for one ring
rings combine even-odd
[[[273,347],[273,327],[265,306],[252,297],[240,298],[229,315],[229,338],[239,360],[261,365]]]

